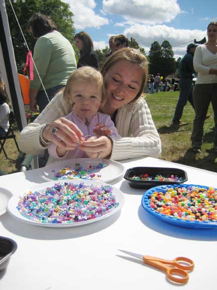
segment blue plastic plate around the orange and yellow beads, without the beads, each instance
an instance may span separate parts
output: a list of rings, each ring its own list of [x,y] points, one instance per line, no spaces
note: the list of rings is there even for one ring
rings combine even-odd
[[[162,192],[166,193],[168,188],[171,187],[185,187],[187,188],[188,186],[197,186],[197,187],[202,187],[205,189],[208,189],[209,186],[203,186],[203,185],[196,185],[196,184],[172,184],[172,185],[160,185],[160,186],[155,186],[147,190],[143,197],[142,197],[142,206],[147,210],[149,213],[155,216],[155,218],[160,219],[163,222],[172,224],[174,226],[178,227],[185,227],[185,228],[199,228],[199,229],[217,229],[217,222],[209,222],[209,221],[204,221],[204,222],[198,222],[198,221],[183,221],[181,219],[175,219],[172,216],[168,216],[165,214],[160,213],[159,211],[156,211],[151,208],[150,206],[150,199],[148,196],[152,195],[155,191],[157,192]]]

